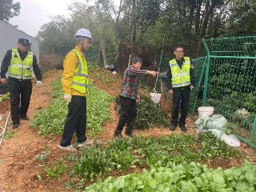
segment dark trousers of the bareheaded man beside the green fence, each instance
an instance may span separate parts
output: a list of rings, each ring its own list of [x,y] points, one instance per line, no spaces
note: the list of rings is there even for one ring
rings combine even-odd
[[[190,86],[174,88],[173,111],[171,115],[171,123],[174,125],[178,124],[178,110],[180,103],[182,106],[182,114],[181,118],[179,119],[179,124],[185,125],[190,104]]]

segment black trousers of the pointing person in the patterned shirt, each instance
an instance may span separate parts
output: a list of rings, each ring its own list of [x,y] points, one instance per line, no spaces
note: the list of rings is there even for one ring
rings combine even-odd
[[[136,100],[120,96],[121,114],[118,126],[114,132],[115,135],[121,134],[123,127],[127,123],[126,134],[132,134],[134,122],[137,115]]]

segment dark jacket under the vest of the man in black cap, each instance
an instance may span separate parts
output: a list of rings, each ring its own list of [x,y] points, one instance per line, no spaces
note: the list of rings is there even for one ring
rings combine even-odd
[[[21,56],[22,61],[26,58],[26,55],[28,54],[28,52],[22,53],[20,50],[18,50],[18,53]],[[1,73],[0,73],[1,78],[6,78],[6,73],[10,66],[11,54],[12,54],[12,50],[7,50],[6,55],[2,60]],[[38,66],[38,60],[34,54],[33,54],[33,70],[34,70],[34,75],[38,79],[38,81],[42,81],[42,73]]]

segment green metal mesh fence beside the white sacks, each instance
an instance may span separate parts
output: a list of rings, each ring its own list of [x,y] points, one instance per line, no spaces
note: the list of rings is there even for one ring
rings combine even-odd
[[[202,105],[214,106],[234,127],[238,138],[256,148],[256,36],[202,39],[206,50],[195,91],[203,89]],[[203,59],[205,59],[203,61]]]

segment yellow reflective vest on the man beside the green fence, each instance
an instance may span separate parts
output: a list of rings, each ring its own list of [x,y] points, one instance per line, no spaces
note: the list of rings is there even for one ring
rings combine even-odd
[[[190,82],[190,58],[184,57],[185,62],[183,62],[182,69],[178,66],[176,59],[171,59],[170,70],[171,70],[171,83],[172,86],[181,87],[181,86],[189,86]]]

